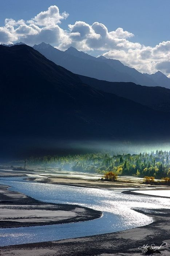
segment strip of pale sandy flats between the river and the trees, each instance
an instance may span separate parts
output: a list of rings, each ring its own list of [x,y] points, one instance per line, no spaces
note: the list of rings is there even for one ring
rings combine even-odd
[[[136,176],[118,176],[116,181],[104,181],[97,178],[98,174],[94,173],[81,173],[81,172],[67,172],[60,171],[56,173],[55,170],[9,170],[1,169],[0,176],[3,177],[17,177],[26,176],[25,179],[28,181],[36,181],[39,183],[56,184],[56,185],[68,185],[74,187],[84,187],[84,188],[137,188],[137,189],[150,189],[150,188],[160,188],[165,189],[170,186],[167,185],[150,185],[144,184],[143,178]],[[28,177],[29,176],[29,177]],[[34,177],[30,177],[34,176]],[[80,177],[81,176],[81,177]],[[94,177],[96,176],[96,178]]]

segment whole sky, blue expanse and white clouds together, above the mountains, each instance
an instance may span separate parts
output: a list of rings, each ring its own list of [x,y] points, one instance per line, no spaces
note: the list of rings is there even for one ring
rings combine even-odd
[[[170,77],[169,0],[0,1],[0,44],[42,41]]]

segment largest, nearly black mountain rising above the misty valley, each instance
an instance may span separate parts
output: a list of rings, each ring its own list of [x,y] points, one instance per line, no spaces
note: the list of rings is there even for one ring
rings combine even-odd
[[[4,152],[23,150],[25,138],[169,138],[169,113],[95,90],[27,45],[0,46],[0,57]]]

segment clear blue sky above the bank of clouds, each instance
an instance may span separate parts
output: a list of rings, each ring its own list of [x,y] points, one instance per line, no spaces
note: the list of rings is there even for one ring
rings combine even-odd
[[[5,0],[0,1],[0,26],[5,18],[30,19],[50,5],[70,14],[61,27],[82,20],[98,21],[108,30],[122,27],[133,42],[154,46],[170,39],[170,0]]]

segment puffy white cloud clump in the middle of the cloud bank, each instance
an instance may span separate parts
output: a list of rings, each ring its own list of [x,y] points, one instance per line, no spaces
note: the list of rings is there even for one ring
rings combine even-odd
[[[86,48],[88,50],[110,50],[114,48],[137,48],[141,45],[138,43],[129,42],[125,37],[133,36],[132,33],[118,28],[115,31],[108,32],[107,27],[99,22],[94,22],[92,25],[86,22],[76,21],[74,25],[68,25],[72,41],[79,49],[80,42],[86,39]]]

